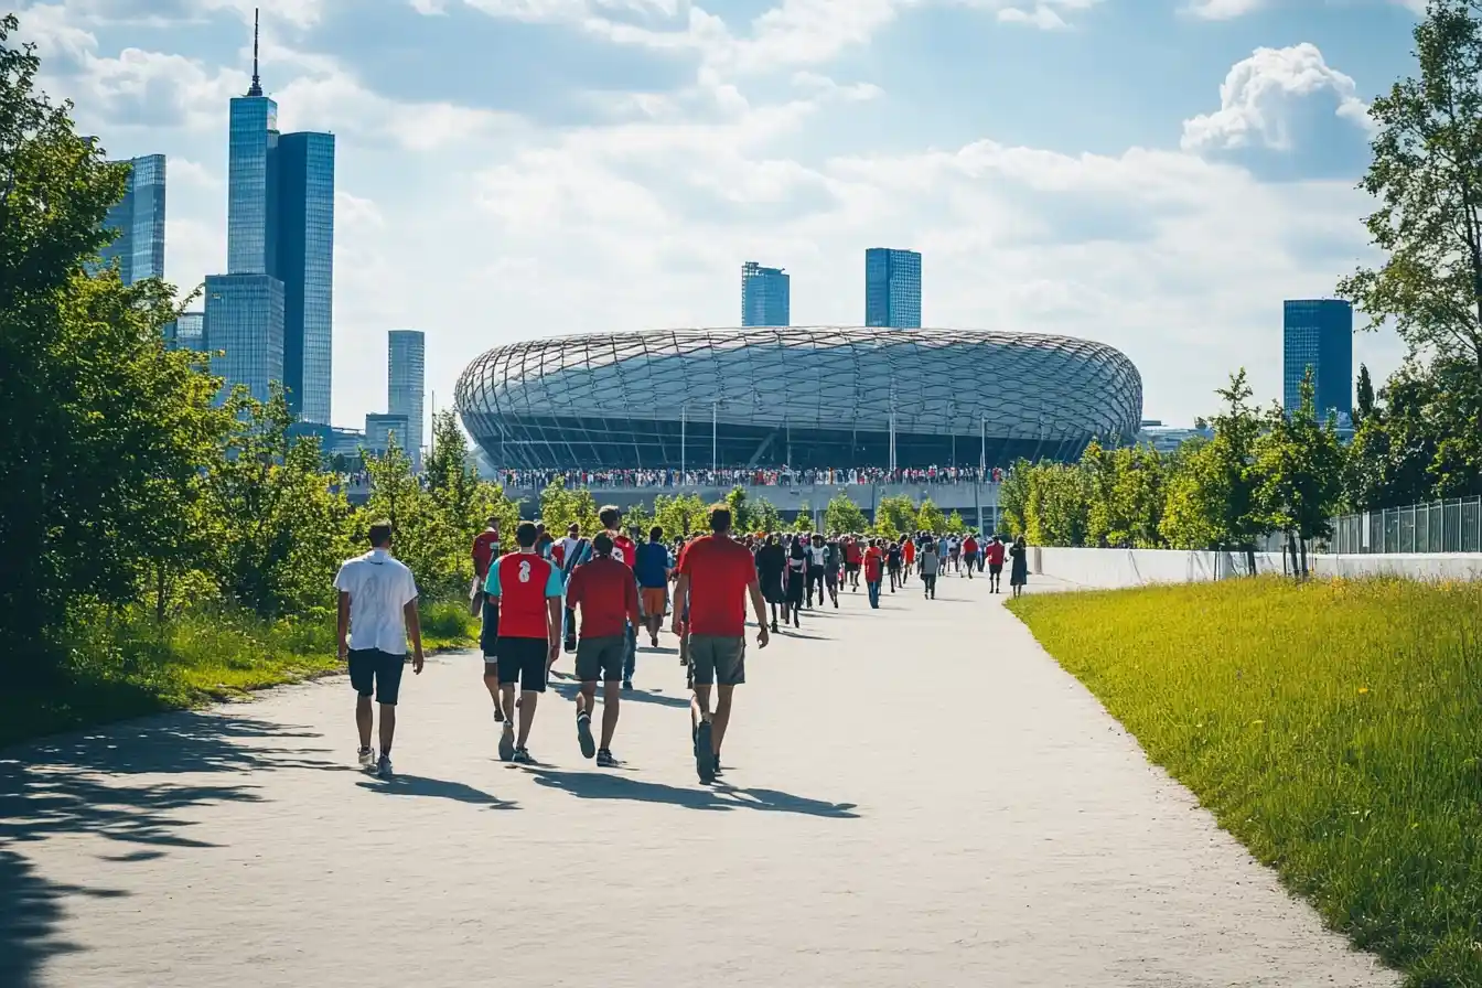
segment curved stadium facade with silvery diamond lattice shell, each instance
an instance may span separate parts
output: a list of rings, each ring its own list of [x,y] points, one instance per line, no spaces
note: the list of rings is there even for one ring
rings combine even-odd
[[[897,467],[994,467],[1131,437],[1143,379],[1066,336],[677,329],[495,347],[456,404],[499,467],[886,467],[892,419]]]

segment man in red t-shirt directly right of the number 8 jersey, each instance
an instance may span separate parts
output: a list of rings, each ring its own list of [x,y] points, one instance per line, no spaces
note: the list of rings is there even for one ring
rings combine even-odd
[[[612,536],[602,532],[591,541],[593,558],[571,576],[566,604],[581,610],[581,640],[576,643],[576,741],[585,758],[597,766],[618,764],[612,757],[612,732],[618,727],[618,684],[627,658],[627,627],[639,621],[639,591],[633,570],[612,557]],[[591,710],[602,677],[602,747],[591,738]]]

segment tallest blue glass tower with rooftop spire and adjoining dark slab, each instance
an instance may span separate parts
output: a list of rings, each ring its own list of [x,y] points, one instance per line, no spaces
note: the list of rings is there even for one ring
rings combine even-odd
[[[335,138],[279,133],[277,104],[264,95],[258,76],[256,33],[252,87],[231,101],[227,172],[227,274],[279,281],[279,379],[301,421],[328,424],[333,378]],[[259,321],[267,318],[264,314]],[[207,316],[207,336],[215,339],[209,321]]]

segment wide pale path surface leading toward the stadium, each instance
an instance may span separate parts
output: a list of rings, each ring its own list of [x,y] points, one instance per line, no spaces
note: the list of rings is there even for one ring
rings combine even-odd
[[[408,675],[393,782],[353,767],[342,678],[6,752],[0,984],[1395,984],[1000,600],[860,593],[753,649],[714,788],[648,652],[622,772],[550,699],[548,767],[496,761],[470,655]]]

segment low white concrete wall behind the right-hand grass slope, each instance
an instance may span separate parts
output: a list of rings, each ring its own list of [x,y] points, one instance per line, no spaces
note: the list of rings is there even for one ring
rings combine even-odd
[[[1482,554],[1395,554],[1307,557],[1319,576],[1406,576],[1411,579],[1482,579]],[[1175,550],[1030,550],[1030,569],[1077,587],[1114,590],[1147,584],[1199,584],[1246,575],[1239,553]],[[1280,573],[1280,553],[1257,553],[1260,573]]]

